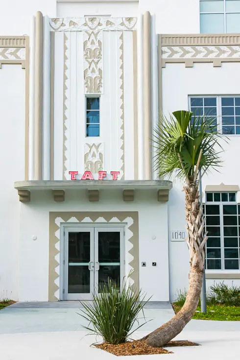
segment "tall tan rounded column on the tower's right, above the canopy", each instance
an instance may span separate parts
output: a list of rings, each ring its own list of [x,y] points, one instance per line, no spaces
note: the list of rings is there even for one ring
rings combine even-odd
[[[151,15],[144,14],[144,168],[145,180],[152,179],[152,84]]]

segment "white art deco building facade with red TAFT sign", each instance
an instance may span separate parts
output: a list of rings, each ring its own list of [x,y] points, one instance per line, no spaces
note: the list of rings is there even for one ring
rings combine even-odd
[[[187,288],[182,185],[149,140],[182,109],[216,116],[225,149],[202,182],[207,287],[239,285],[240,1],[9,1],[0,20],[0,295]]]

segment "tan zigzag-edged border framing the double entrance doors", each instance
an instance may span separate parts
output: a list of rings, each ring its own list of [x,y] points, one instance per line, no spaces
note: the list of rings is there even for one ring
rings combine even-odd
[[[133,270],[130,284],[139,289],[139,238],[138,212],[50,212],[49,213],[49,274],[48,300],[60,299],[60,226],[67,223],[88,223],[97,226],[99,223],[126,224],[125,247],[127,252],[126,271]],[[96,223],[96,224],[95,224]],[[125,274],[128,275],[128,274]]]

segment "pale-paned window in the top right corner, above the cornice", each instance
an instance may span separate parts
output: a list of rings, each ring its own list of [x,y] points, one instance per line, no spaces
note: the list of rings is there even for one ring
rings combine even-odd
[[[200,32],[240,32],[240,0],[200,0]]]

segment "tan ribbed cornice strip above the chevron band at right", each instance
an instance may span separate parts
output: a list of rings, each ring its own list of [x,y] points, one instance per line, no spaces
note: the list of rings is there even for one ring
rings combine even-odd
[[[240,45],[240,34],[162,35],[162,46]]]

